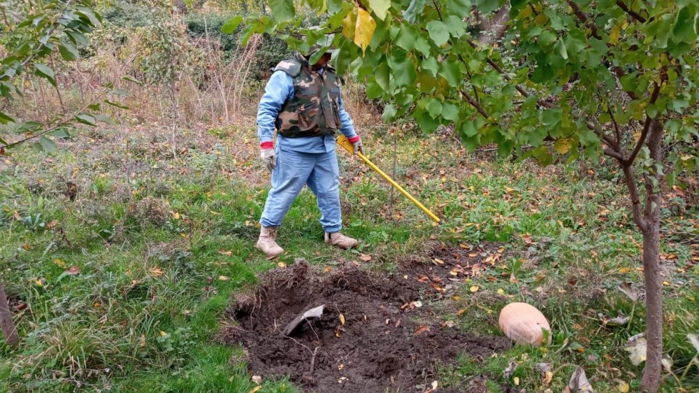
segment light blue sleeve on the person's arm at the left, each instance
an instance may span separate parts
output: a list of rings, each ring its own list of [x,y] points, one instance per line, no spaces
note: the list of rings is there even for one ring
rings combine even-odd
[[[257,136],[260,143],[272,141],[274,122],[284,102],[291,97],[294,97],[294,80],[284,71],[275,71],[257,107]]]

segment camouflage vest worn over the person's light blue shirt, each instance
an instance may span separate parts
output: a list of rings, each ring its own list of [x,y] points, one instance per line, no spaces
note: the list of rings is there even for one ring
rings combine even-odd
[[[294,97],[284,102],[275,126],[286,138],[334,134],[340,121],[340,80],[331,67],[320,74],[298,53],[274,71],[284,71],[294,80]]]

